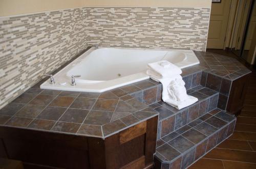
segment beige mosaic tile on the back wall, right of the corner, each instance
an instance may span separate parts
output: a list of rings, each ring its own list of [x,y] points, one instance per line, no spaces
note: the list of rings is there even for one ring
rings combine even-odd
[[[88,43],[205,51],[209,14],[209,8],[88,8]]]

